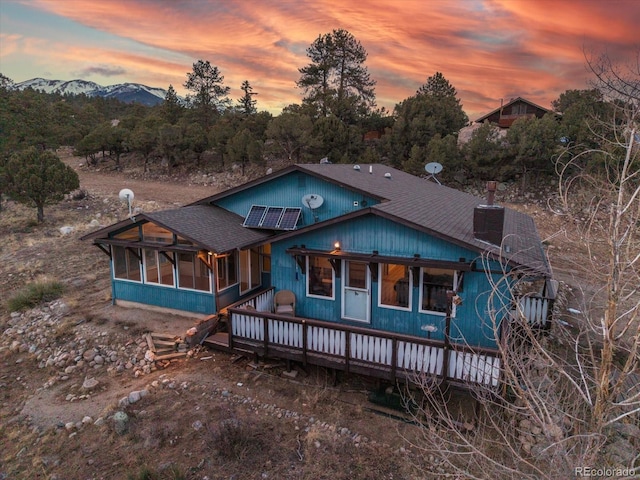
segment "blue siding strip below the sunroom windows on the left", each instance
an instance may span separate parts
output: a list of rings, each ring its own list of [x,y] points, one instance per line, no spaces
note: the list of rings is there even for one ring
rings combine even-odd
[[[173,308],[194,313],[215,313],[213,293],[181,290],[137,282],[113,280],[113,297],[116,300],[145,303],[163,308]]]

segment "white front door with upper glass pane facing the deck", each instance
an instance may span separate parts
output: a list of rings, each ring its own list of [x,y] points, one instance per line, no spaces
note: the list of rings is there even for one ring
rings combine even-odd
[[[369,322],[371,315],[371,273],[363,262],[344,261],[342,318]]]

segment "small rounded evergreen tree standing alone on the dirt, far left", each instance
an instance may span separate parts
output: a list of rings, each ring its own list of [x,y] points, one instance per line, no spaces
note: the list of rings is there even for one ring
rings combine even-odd
[[[14,200],[37,209],[38,222],[44,221],[44,206],[59,202],[79,188],[78,174],[50,150],[29,147],[14,154],[6,167],[4,183]]]

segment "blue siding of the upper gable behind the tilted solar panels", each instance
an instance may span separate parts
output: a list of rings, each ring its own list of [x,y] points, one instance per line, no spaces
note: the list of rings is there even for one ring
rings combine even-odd
[[[324,203],[311,211],[302,204],[307,194],[320,195]],[[324,221],[379,203],[372,197],[341,188],[338,185],[320,180],[303,172],[291,172],[266,184],[243,190],[216,202],[216,205],[244,217],[251,205],[279,207],[301,207],[302,218],[298,227],[313,224],[314,214],[317,221]],[[354,206],[358,202],[358,206]]]

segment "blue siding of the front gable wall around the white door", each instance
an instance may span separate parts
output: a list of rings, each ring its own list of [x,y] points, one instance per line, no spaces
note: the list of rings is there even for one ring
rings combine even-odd
[[[296,315],[418,337],[428,337],[423,327],[432,325],[437,331],[432,332],[430,338],[444,340],[445,317],[419,312],[420,288],[416,284],[412,292],[412,309],[404,311],[379,307],[378,284],[372,281],[370,324],[341,320],[340,278],[335,281],[334,300],[307,297],[305,272],[291,255],[285,253],[286,249],[293,245],[304,245],[312,250],[331,251],[336,241],[340,242],[343,252],[370,254],[377,250],[379,255],[395,257],[412,258],[414,254],[419,254],[424,259],[458,261],[464,258],[465,262],[470,263],[478,257],[477,253],[374,215],[330,225],[292,239],[276,241],[272,245],[272,284],[276,290],[287,289],[295,293]],[[484,271],[465,272],[463,289],[459,293],[462,304],[456,307],[455,318],[451,320],[452,341],[483,347],[495,346],[486,307],[490,290]],[[479,316],[479,312],[482,316]]]

